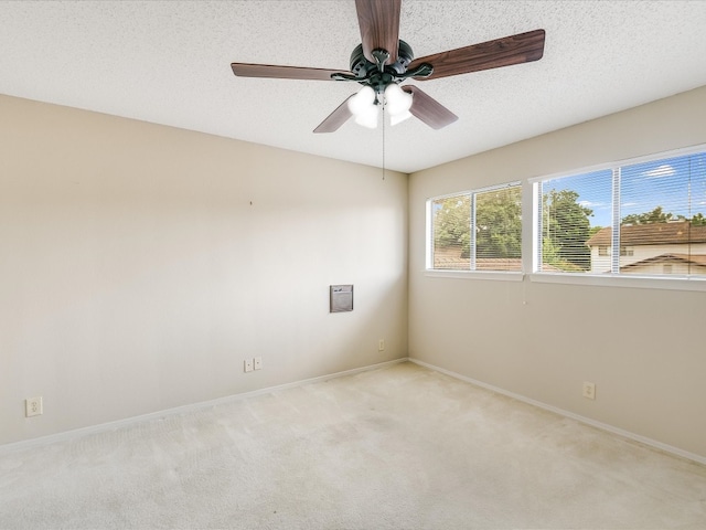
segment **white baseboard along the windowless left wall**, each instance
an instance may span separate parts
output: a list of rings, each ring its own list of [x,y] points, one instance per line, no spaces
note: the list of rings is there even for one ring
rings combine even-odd
[[[269,394],[271,392],[277,392],[277,391],[287,390],[287,389],[295,389],[297,386],[301,386],[309,383],[318,383],[321,381],[329,381],[331,379],[343,378],[345,375],[353,375],[361,372],[367,372],[370,370],[376,370],[378,368],[389,367],[392,364],[398,364],[400,362],[406,362],[408,360],[409,360],[408,358],[403,357],[400,359],[379,362],[377,364],[371,364],[367,367],[354,368],[351,370],[344,370],[342,372],[330,373],[327,375],[319,375],[317,378],[304,379],[301,381],[279,384],[276,386],[268,386],[265,389],[254,390],[252,392],[243,392],[240,394],[227,395],[225,398],[218,398],[216,400],[202,401],[202,402],[192,403],[189,405],[182,405],[173,409],[165,409],[163,411],[151,412],[149,414],[141,414],[139,416],[126,417],[125,420],[117,420],[115,422],[100,423],[98,425],[90,425],[88,427],[75,428],[72,431],[65,431],[63,433],[50,434],[46,436],[24,439],[21,442],[13,442],[10,444],[0,445],[0,454],[22,451],[29,447],[44,446],[44,445],[54,444],[57,442],[64,442],[67,439],[77,438],[81,436],[86,436],[89,434],[104,433],[106,431],[115,431],[117,428],[126,427],[136,423],[160,420],[163,417],[173,416],[178,414],[185,414],[190,412],[197,412],[203,409],[208,409],[212,406],[227,404],[227,403],[234,403],[240,400],[246,400],[248,398],[254,398],[256,395]]]

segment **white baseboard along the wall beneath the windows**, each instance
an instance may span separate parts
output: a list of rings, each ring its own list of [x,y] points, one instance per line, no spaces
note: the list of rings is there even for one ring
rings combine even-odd
[[[654,447],[655,449],[663,451],[665,453],[671,453],[675,456],[681,456],[682,458],[687,458],[689,460],[697,462],[699,464],[706,465],[706,457],[697,455],[695,453],[689,453],[688,451],[680,449],[678,447],[674,447],[667,444],[663,444],[662,442],[657,442],[656,439],[648,438],[646,436],[641,436],[635,433],[631,433],[630,431],[624,431],[619,427],[614,427],[613,425],[609,425],[607,423],[597,422],[596,420],[591,420],[590,417],[581,416],[579,414],[575,414],[569,411],[565,411],[563,409],[558,409],[553,405],[547,405],[546,403],[542,403],[541,401],[535,401],[530,398],[525,398],[524,395],[515,394],[514,392],[509,392],[499,386],[494,386],[492,384],[483,383],[482,381],[477,381],[472,378],[467,378],[466,375],[461,375],[460,373],[452,372],[451,370],[446,370],[443,368],[435,367],[434,364],[429,364],[428,362],[420,361],[418,359],[409,358],[410,362],[415,364],[419,364],[420,367],[428,368],[429,370],[434,370],[436,372],[443,373],[446,375],[450,375],[451,378],[459,379],[461,381],[466,381],[467,383],[474,384],[477,386],[481,386],[485,390],[490,390],[492,392],[496,392],[502,395],[506,395],[507,398],[512,398],[517,401],[522,401],[523,403],[527,403],[530,405],[538,406],[539,409],[544,409],[545,411],[554,412],[555,414],[559,414],[560,416],[570,417],[571,420],[576,420],[578,422],[585,423],[587,425],[591,425],[592,427],[600,428],[602,431],[608,431],[609,433],[617,434],[624,438],[633,439],[635,442],[640,442],[641,444],[649,445],[650,447]]]

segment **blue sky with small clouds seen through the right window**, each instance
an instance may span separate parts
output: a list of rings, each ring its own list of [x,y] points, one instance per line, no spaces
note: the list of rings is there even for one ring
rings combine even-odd
[[[548,190],[573,190],[577,202],[590,208],[591,226],[610,226],[612,214],[612,171],[592,171],[545,181]],[[621,170],[620,216],[641,214],[662,206],[674,218],[706,215],[706,152],[651,160]]]

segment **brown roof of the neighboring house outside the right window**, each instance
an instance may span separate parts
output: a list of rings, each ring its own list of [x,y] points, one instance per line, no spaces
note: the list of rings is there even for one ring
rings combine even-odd
[[[587,242],[588,246],[610,246],[610,226],[596,232]],[[623,224],[620,226],[621,246],[664,245],[678,243],[706,243],[706,226],[680,223]]]

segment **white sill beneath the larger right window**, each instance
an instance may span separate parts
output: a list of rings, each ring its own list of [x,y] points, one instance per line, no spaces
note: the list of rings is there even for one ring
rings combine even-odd
[[[638,289],[700,290],[706,292],[706,278],[687,278],[685,276],[664,278],[638,275],[589,275],[534,273],[527,275],[531,282],[541,284],[570,284],[598,287],[630,287]]]

